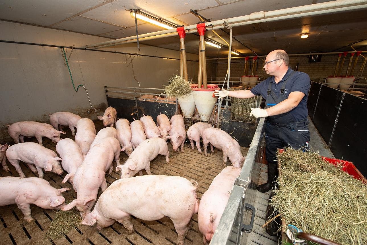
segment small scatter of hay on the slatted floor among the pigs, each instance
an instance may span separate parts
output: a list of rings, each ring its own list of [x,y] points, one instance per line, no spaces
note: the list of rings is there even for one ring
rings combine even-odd
[[[79,228],[81,221],[80,212],[76,208],[68,211],[57,211],[45,234],[45,241],[49,242],[49,239],[57,240],[68,233],[69,230]]]

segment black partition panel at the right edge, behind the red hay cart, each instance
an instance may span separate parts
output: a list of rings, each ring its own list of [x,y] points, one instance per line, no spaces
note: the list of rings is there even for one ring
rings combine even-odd
[[[331,141],[331,151],[335,158],[353,162],[364,176],[367,176],[366,122],[367,100],[345,94]]]

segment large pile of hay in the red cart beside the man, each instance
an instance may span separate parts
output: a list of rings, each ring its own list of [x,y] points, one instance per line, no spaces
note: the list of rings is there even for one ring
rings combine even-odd
[[[315,152],[278,154],[281,175],[272,205],[306,233],[341,244],[367,244],[367,184]]]

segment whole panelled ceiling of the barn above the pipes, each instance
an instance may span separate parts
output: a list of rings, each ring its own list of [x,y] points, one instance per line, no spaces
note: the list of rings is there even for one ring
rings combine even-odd
[[[1,0],[0,19],[118,39],[136,35],[135,20],[127,11],[134,8],[177,25],[193,25],[200,19],[190,9],[214,21],[322,2],[327,0]],[[232,49],[241,56],[265,55],[279,48],[288,54],[352,51],[350,44],[356,50],[366,50],[366,13],[364,8],[234,27]],[[139,35],[159,30],[163,29],[138,21]],[[305,31],[309,37],[300,39]],[[216,32],[229,42],[224,31]],[[206,37],[225,44],[211,31],[206,32]],[[198,53],[198,40],[195,34],[186,35],[186,52]],[[178,36],[141,43],[179,50]],[[228,51],[221,48],[218,54],[217,48],[206,46],[206,54],[227,57]]]

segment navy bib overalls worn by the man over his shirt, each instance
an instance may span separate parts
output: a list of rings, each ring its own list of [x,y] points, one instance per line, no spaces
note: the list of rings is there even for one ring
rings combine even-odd
[[[285,89],[286,84],[293,76],[292,71],[287,80],[283,81],[280,88],[280,95],[272,90],[272,82],[269,82],[268,95],[265,101],[265,108],[272,107],[288,98]],[[292,110],[280,115],[269,116],[266,120],[265,138],[266,138],[266,160],[269,164],[276,164],[277,148],[292,147],[294,149],[303,149],[308,151],[308,141],[310,140],[310,131],[308,129],[308,119],[305,118],[294,122],[291,115]]]

